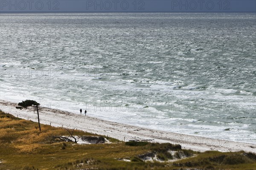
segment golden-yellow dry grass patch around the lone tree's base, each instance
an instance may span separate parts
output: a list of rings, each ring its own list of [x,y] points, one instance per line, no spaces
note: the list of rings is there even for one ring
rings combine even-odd
[[[36,153],[43,149],[42,144],[49,143],[47,137],[68,135],[67,130],[49,125],[42,125],[40,132],[35,122],[13,116],[1,117],[0,122],[0,145],[13,147],[18,153]]]

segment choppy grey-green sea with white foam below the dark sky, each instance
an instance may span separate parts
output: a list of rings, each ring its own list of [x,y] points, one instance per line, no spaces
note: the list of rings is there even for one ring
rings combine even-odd
[[[255,144],[255,30],[253,13],[0,14],[0,99]]]

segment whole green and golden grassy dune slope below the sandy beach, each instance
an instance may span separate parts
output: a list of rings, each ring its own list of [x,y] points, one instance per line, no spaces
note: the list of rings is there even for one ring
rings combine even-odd
[[[179,170],[182,168],[256,170],[256,155],[244,152],[221,153],[207,151],[197,153],[183,150],[196,156],[175,162],[143,162],[137,156],[148,151],[157,151],[162,159],[170,156],[166,150],[180,150],[177,145],[145,143],[131,146],[109,138],[111,144],[75,144],[73,142],[50,143],[46,138],[53,135],[68,136],[64,128],[41,125],[16,118],[0,111],[0,170]],[[99,136],[75,130],[74,135]],[[106,136],[105,136],[106,137]],[[131,159],[131,162],[117,158]]]

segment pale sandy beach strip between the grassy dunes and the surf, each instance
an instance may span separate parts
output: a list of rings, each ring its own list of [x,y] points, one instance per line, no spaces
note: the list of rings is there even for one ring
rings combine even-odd
[[[0,109],[5,113],[38,122],[37,114],[34,111],[16,109],[17,103],[15,102],[0,100],[0,105]],[[224,136],[220,139],[212,139],[202,136],[152,130],[50,108],[41,108],[39,117],[42,124],[55,127],[77,128],[99,135],[110,136],[125,142],[136,139],[151,140],[151,142],[180,144],[183,149],[201,152],[206,150],[217,150],[220,152],[244,150],[246,152],[256,153],[256,144],[228,141],[225,140],[227,138]]]

